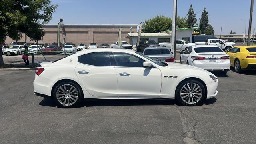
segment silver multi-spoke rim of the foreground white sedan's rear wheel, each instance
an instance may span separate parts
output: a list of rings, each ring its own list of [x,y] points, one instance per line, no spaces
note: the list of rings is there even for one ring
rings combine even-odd
[[[78,100],[78,90],[70,84],[63,84],[58,88],[56,97],[63,106],[71,106]]]

